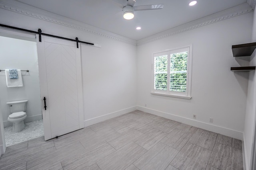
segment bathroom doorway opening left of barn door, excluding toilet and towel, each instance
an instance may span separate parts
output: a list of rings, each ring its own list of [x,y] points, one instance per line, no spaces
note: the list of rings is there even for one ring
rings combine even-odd
[[[32,41],[31,41],[32,40]],[[0,108],[4,125],[6,147],[44,135],[38,57],[36,39],[14,35],[0,35]],[[7,87],[5,70],[29,70],[21,72],[23,86]],[[12,114],[7,102],[28,100],[24,119],[25,128],[13,132],[13,122],[8,121]],[[3,134],[2,134],[3,135]]]

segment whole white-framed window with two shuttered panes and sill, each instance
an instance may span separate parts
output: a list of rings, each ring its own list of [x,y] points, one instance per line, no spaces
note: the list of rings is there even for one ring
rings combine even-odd
[[[153,53],[151,94],[190,99],[192,45]]]

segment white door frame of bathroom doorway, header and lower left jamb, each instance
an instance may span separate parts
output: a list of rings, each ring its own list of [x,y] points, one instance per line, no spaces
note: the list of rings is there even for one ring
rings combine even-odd
[[[36,42],[35,35],[9,31],[8,29],[0,29],[0,36]],[[1,101],[0,101],[0,104],[1,104]],[[4,137],[4,122],[3,122],[2,108],[0,106],[0,156],[4,154],[5,150],[6,150],[6,143],[5,143],[5,137]]]

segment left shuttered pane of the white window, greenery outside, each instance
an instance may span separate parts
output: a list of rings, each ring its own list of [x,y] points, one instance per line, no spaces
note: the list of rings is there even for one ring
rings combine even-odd
[[[154,57],[154,89],[167,90],[168,55]]]

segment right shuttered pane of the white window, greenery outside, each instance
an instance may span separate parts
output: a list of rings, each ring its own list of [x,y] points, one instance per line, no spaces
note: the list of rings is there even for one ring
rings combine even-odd
[[[171,54],[170,91],[186,92],[188,52]]]

